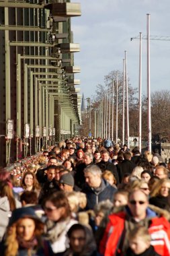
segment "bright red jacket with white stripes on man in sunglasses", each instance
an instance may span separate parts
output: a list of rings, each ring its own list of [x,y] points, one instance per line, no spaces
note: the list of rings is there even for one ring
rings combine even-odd
[[[110,215],[110,222],[105,229],[105,233],[100,243],[99,251],[105,256],[115,256],[116,252],[122,253],[118,249],[120,238],[124,230],[126,213]],[[151,234],[151,245],[155,251],[162,256],[170,256],[170,224],[164,217],[155,217],[151,220],[151,225],[148,228]]]

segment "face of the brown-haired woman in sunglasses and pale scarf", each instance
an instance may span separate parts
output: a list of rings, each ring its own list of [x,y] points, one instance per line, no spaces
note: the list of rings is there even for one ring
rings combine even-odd
[[[46,201],[44,211],[49,220],[53,220],[54,222],[56,222],[60,220],[62,215],[65,213],[65,208],[57,208],[51,201]]]

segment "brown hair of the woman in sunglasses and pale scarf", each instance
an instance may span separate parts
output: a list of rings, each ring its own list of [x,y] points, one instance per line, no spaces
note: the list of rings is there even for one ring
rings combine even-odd
[[[52,193],[52,195],[49,195],[45,199],[45,203],[46,201],[50,201],[56,208],[65,207],[65,214],[61,216],[60,220],[65,220],[65,218],[71,216],[69,201],[63,191],[57,191],[55,193]]]

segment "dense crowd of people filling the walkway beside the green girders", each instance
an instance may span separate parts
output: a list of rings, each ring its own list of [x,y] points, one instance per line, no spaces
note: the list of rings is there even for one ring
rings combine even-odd
[[[170,163],[100,137],[0,170],[1,256],[170,256]]]

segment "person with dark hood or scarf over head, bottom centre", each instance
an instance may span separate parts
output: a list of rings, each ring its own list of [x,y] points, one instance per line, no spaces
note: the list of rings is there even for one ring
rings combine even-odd
[[[74,224],[67,232],[69,237],[69,249],[64,256],[97,256],[93,233],[82,224]]]

